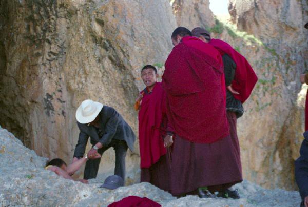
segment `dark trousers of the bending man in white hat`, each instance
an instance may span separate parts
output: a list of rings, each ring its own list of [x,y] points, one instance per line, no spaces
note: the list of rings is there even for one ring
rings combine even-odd
[[[115,151],[115,168],[114,175],[119,175],[125,180],[125,157],[127,152],[127,144],[124,140],[112,139],[108,146],[103,146],[98,150],[100,155],[108,150],[110,147],[113,147]],[[98,159],[89,159],[86,163],[84,179],[96,178],[99,172],[101,158]]]

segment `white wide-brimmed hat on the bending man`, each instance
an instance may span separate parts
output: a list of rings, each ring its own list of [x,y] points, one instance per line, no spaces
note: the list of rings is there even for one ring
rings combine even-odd
[[[80,123],[90,123],[99,115],[103,106],[102,103],[95,102],[91,99],[82,101],[76,111],[77,121]]]

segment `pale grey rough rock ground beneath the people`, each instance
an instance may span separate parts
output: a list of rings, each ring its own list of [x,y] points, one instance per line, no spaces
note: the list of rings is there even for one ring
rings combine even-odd
[[[241,199],[186,196],[172,197],[150,183],[107,190],[101,179],[89,184],[72,181],[45,170],[47,158],[24,147],[13,134],[0,127],[0,205],[1,206],[107,206],[124,197],[147,197],[162,206],[299,206],[296,191],[267,190],[249,181],[236,185]]]

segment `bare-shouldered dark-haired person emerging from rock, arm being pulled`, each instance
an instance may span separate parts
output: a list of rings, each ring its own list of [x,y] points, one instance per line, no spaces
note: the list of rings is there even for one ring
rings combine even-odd
[[[101,156],[98,154],[96,158],[100,158]],[[78,171],[83,164],[88,160],[87,155],[78,161],[71,163],[70,165],[66,165],[65,161],[60,158],[55,158],[47,162],[45,169],[55,172],[57,175],[64,177],[66,179],[75,180],[71,177],[76,171]],[[80,181],[82,183],[88,183],[88,180],[78,179],[76,181]]]

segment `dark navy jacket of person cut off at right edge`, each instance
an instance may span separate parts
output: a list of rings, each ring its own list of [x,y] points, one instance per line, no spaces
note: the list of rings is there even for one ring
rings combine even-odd
[[[295,179],[302,199],[308,196],[308,131],[304,133],[300,157],[295,160]]]

